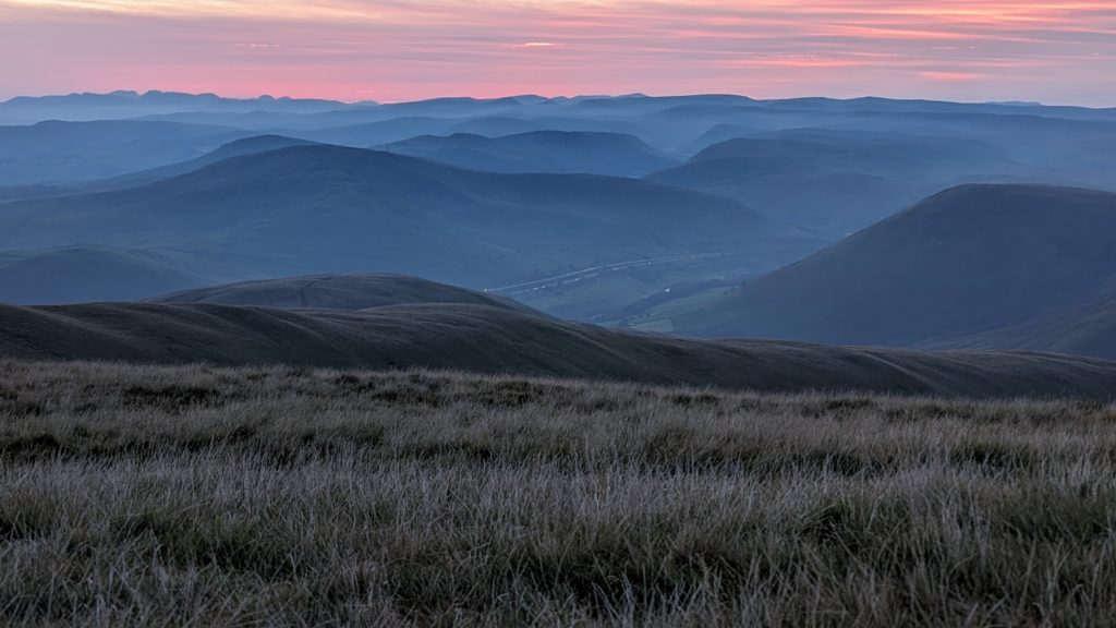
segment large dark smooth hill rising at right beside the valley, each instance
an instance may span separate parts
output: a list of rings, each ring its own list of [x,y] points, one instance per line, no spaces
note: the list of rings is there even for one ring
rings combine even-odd
[[[947,190],[674,320],[682,333],[1116,358],[1116,194]]]

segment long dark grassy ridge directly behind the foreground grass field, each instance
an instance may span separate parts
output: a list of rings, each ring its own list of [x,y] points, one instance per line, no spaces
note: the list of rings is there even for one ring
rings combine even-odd
[[[1085,359],[686,341],[458,304],[360,312],[196,304],[0,306],[0,356],[432,368],[773,391],[1108,398],[1116,390],[1116,363]]]

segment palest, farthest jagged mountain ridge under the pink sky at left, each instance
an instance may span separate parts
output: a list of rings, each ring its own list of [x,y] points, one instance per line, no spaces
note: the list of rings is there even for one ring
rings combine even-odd
[[[273,98],[222,98],[214,94],[175,92],[113,92],[20,96],[0,103],[0,123],[31,124],[45,120],[87,122],[122,120],[175,112],[288,112],[317,113],[346,107],[336,101]]]

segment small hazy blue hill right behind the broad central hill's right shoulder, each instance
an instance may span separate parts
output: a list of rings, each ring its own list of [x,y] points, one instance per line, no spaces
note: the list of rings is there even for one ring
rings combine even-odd
[[[555,172],[639,177],[676,162],[634,135],[536,131],[503,137],[458,133],[391,144],[393,153],[491,172]]]

